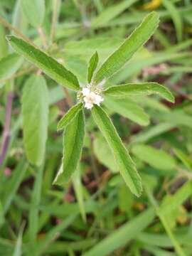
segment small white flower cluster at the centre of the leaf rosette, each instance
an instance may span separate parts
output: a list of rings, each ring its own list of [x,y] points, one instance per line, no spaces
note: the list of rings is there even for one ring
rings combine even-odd
[[[85,102],[85,107],[87,110],[92,109],[93,105],[100,106],[100,103],[103,102],[103,97],[92,92],[90,88],[84,87],[82,89],[83,101]]]

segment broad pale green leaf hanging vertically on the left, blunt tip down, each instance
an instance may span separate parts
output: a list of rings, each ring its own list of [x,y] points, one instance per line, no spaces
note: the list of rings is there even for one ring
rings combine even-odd
[[[32,164],[40,165],[46,151],[48,133],[48,89],[43,76],[32,75],[26,81],[22,114],[26,155]]]

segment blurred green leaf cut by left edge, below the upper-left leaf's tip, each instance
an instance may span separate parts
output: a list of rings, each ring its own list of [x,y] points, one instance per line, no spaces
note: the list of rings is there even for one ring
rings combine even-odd
[[[21,67],[23,58],[16,53],[11,53],[0,60],[0,84],[4,83],[2,80],[10,78],[18,68]]]

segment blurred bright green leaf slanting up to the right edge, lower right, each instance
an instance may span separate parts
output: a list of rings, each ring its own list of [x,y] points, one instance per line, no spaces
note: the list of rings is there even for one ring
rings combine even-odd
[[[192,182],[186,182],[181,188],[174,193],[174,195],[169,195],[170,200],[162,203],[159,207],[158,214],[166,215],[171,213],[171,211],[176,210],[179,206],[181,206],[186,199],[191,196],[192,193]]]

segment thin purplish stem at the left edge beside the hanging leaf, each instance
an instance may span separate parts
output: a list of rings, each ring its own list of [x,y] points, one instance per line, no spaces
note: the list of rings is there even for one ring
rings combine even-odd
[[[6,119],[5,119],[3,139],[2,139],[2,145],[1,145],[1,154],[0,154],[0,168],[1,168],[1,165],[3,164],[4,158],[6,156],[6,151],[9,146],[11,109],[12,109],[13,98],[14,98],[13,92],[11,91],[8,92],[7,102],[6,102]]]

